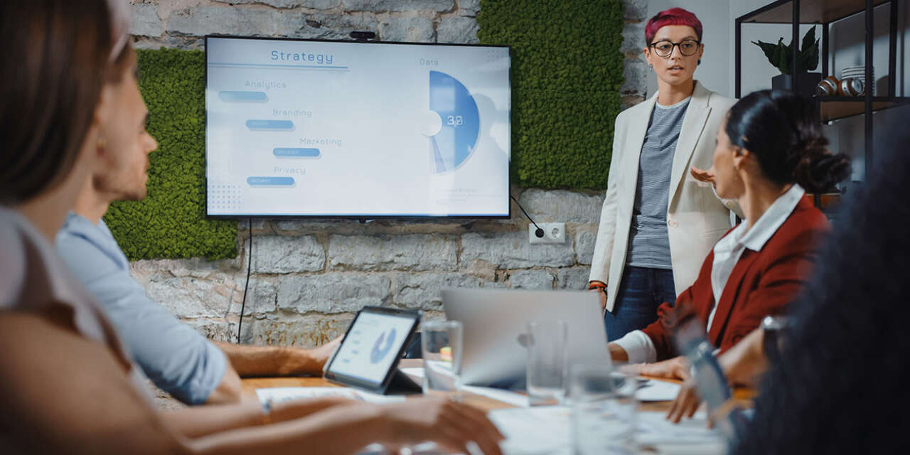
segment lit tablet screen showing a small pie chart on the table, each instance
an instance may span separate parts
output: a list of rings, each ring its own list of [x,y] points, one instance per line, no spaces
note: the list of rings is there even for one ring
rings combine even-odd
[[[414,319],[363,312],[332,360],[329,371],[379,384],[408,337]]]

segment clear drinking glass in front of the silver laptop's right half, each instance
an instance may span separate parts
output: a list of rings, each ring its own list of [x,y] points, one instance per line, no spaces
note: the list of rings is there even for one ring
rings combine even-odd
[[[531,406],[557,405],[565,396],[568,333],[562,320],[528,323],[527,385]]]

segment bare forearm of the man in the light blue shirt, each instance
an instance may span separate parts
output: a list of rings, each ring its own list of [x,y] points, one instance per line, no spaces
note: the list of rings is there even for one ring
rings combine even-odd
[[[224,351],[241,378],[319,374],[322,369],[308,349],[237,345],[221,341],[215,344]]]

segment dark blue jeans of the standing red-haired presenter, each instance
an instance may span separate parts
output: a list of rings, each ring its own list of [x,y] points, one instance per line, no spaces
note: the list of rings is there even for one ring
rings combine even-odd
[[[657,320],[657,307],[676,302],[673,271],[663,268],[626,266],[620,288],[616,289],[612,311],[603,315],[607,339],[621,339],[635,329],[644,329]]]

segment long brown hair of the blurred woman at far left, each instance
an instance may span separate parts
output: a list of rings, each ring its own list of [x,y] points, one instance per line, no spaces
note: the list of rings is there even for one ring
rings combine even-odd
[[[0,43],[0,203],[13,205],[55,187],[76,162],[109,74],[106,2],[5,0]]]

